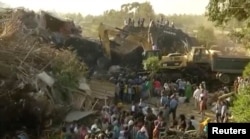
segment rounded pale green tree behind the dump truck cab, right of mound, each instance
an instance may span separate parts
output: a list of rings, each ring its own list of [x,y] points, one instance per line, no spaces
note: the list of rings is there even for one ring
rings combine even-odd
[[[197,39],[200,41],[201,44],[205,46],[207,45],[210,46],[212,43],[216,41],[214,29],[200,26],[197,30]]]

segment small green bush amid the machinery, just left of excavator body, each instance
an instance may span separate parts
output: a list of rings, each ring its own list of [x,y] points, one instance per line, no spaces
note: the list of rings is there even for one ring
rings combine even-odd
[[[160,68],[160,60],[158,57],[149,57],[143,61],[144,69],[157,72]]]

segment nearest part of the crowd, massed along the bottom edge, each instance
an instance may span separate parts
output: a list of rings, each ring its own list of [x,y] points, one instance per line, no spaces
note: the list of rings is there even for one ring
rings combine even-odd
[[[171,103],[173,102],[170,102],[170,105]],[[65,127],[62,129],[62,138],[160,139],[167,136],[169,129],[189,131],[199,128],[198,121],[194,119],[194,116],[186,119],[184,114],[180,114],[178,118],[173,116],[173,122],[170,122],[167,116],[167,107],[165,105],[157,115],[152,108],[145,107],[143,102],[133,104],[130,110],[123,110],[119,106],[104,107],[101,118],[96,119],[90,128],[79,128],[78,125],[72,124],[68,129],[70,132],[67,132]]]

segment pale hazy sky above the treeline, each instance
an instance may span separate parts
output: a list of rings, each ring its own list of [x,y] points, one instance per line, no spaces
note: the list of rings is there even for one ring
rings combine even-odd
[[[156,13],[203,14],[209,0],[0,0],[11,7],[32,10],[49,10],[60,13],[100,15],[109,9],[120,9],[124,3],[145,2],[152,4]]]

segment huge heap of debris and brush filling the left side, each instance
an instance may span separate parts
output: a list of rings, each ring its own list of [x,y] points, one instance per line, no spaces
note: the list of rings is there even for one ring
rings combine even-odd
[[[86,66],[73,52],[50,43],[79,36],[79,28],[46,12],[4,10],[0,13],[0,138],[23,127],[40,134],[61,122],[69,110],[90,109],[84,107],[84,100],[91,94],[79,87],[86,82]]]

